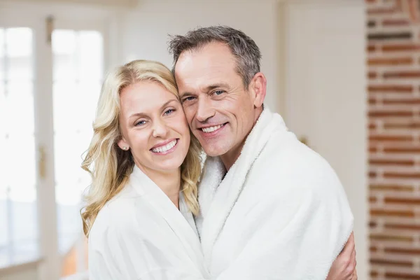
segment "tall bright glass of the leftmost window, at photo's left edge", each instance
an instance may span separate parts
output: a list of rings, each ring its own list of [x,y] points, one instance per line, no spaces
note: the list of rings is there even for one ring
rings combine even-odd
[[[15,260],[38,239],[32,46],[31,29],[0,29],[0,258],[13,244]]]

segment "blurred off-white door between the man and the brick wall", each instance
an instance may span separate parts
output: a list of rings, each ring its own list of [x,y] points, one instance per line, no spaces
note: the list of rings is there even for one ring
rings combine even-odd
[[[367,279],[365,5],[286,5],[286,121],[341,179],[355,218],[359,279]]]

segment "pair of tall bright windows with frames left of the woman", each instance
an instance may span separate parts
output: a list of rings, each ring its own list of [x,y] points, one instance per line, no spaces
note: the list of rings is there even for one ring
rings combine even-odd
[[[0,18],[0,268],[48,254],[54,247],[40,247],[41,237],[55,231],[62,256],[56,263],[65,266],[59,274],[84,272],[80,208],[90,176],[80,165],[104,73],[102,22],[56,22],[51,45],[36,21],[4,22]],[[38,145],[45,139],[53,145]],[[45,157],[54,165],[43,165]],[[52,228],[45,228],[46,211],[57,217]]]

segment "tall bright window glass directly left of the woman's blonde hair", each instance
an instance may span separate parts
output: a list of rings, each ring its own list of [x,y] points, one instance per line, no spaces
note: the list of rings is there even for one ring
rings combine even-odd
[[[80,264],[85,260],[85,248],[77,245],[84,244],[80,208],[83,191],[91,181],[80,165],[92,137],[92,122],[102,85],[103,39],[97,31],[55,30],[52,49],[59,249],[67,252],[73,248]],[[65,266],[66,260],[63,263]],[[85,268],[76,270],[83,272]],[[63,276],[76,270],[64,267]]]

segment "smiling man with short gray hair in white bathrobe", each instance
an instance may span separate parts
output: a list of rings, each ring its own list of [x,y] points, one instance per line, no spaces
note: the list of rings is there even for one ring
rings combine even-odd
[[[169,49],[190,129],[207,154],[196,223],[211,276],[357,279],[341,183],[263,105],[255,42],[206,27],[174,36]]]

